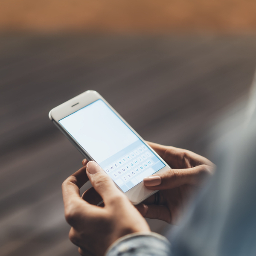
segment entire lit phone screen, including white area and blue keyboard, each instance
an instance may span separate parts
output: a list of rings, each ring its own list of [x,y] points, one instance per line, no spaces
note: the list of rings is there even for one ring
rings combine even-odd
[[[102,99],[58,122],[123,192],[165,166]]]

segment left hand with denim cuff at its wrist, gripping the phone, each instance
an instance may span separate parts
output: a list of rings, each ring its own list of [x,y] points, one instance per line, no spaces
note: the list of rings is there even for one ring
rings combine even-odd
[[[93,161],[62,184],[65,218],[71,226],[70,240],[81,255],[102,256],[117,239],[130,233],[150,231],[140,212],[113,180]],[[80,197],[79,189],[88,180],[93,188]],[[104,207],[99,207],[104,200]]]

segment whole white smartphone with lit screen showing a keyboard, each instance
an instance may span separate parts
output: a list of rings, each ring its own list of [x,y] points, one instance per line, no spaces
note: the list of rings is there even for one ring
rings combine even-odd
[[[49,119],[87,160],[102,167],[133,204],[157,192],[145,188],[143,178],[170,169],[96,91],[53,108]]]

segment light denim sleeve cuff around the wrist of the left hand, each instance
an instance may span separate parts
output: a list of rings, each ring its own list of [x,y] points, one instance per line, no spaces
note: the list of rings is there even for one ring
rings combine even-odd
[[[170,256],[171,244],[157,233],[123,236],[108,248],[105,256]]]

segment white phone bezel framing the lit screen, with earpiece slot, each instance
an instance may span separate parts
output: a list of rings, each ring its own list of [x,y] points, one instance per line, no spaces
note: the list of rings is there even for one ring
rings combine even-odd
[[[131,131],[133,131],[134,134],[136,134],[140,138],[140,140],[142,140],[143,143],[145,143],[148,148],[150,148],[154,152],[154,154],[156,154],[157,157],[159,157],[160,160],[166,165],[159,171],[155,172],[154,175],[171,169],[168,164],[143,140],[143,138],[140,137],[140,135],[137,134],[136,131],[134,131],[134,129],[125,121],[125,119],[123,119],[122,116],[120,116],[119,113],[117,113],[115,109],[113,109],[112,106],[98,92],[94,90],[87,90],[84,93],[81,93],[78,96],[68,100],[67,102],[64,102],[61,105],[53,108],[49,112],[49,119],[61,130],[61,132],[67,137],[67,139],[70,140],[70,142],[87,160],[93,160],[93,157],[91,157],[90,154],[88,154],[88,152],[85,151],[84,148],[82,148],[81,145],[79,145],[79,143],[77,143],[76,140],[73,139],[73,137],[62,127],[62,125],[58,121],[78,111],[79,109],[84,108],[85,106],[95,102],[98,99],[102,99],[102,101],[105,102],[109,108],[111,108],[111,110],[125,123],[125,125],[127,125],[131,129]],[[79,104],[77,104],[78,102]],[[119,188],[119,186],[117,187]],[[136,205],[140,204],[142,201],[144,201],[150,195],[153,195],[155,192],[157,192],[157,190],[149,190],[145,188],[143,182],[141,182],[125,192],[125,195],[127,195],[132,204]]]

